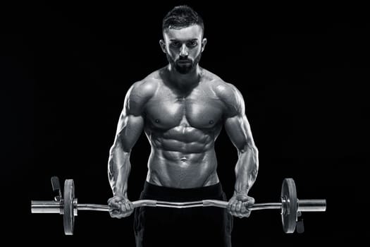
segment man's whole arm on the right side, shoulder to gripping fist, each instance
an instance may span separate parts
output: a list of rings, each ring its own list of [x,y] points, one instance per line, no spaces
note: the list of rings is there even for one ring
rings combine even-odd
[[[249,197],[248,192],[257,179],[258,150],[254,144],[247,116],[245,116],[245,102],[242,94],[231,84],[219,87],[219,90],[221,90],[223,102],[226,103],[225,130],[238,150],[235,190],[233,198],[229,201],[229,210],[232,215],[247,217],[250,211],[246,210],[246,207],[254,204],[254,198]]]

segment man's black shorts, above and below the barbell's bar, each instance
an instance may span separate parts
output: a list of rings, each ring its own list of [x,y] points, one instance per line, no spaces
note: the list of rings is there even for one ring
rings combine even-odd
[[[168,188],[145,182],[140,199],[190,202],[226,200],[221,183],[201,188]],[[137,247],[231,246],[233,216],[221,207],[137,207]]]

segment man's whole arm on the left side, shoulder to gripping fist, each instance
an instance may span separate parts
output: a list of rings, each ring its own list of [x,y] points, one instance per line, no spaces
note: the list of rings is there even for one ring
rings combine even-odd
[[[150,86],[138,82],[131,86],[125,96],[116,136],[109,150],[108,176],[113,192],[113,198],[109,199],[109,206],[112,217],[125,217],[133,210],[127,193],[131,169],[130,153],[144,128],[142,114],[144,104],[151,97],[151,92]]]

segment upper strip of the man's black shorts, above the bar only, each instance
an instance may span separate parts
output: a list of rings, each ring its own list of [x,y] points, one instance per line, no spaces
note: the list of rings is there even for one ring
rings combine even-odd
[[[222,197],[221,183],[198,188],[171,188],[145,181],[140,199],[168,200],[172,202],[209,200]]]

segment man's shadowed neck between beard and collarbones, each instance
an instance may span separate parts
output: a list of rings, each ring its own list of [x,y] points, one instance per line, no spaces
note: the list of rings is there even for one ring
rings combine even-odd
[[[175,85],[176,88],[193,88],[200,81],[202,70],[198,64],[192,71],[186,74],[178,73],[178,71],[176,71],[175,68],[172,68],[171,65],[168,65],[167,68],[171,83]]]

